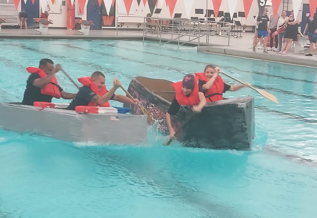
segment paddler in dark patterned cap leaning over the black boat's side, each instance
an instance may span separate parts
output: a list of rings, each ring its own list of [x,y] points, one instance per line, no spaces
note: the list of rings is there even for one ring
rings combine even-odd
[[[171,115],[176,115],[176,113],[178,112],[180,108],[180,105],[191,106],[192,111],[196,113],[201,112],[201,110],[206,105],[206,98],[204,96],[203,90],[199,89],[198,84],[196,84],[197,80],[195,80],[193,75],[190,75],[190,74],[186,75],[183,78],[183,81],[178,83],[182,83],[182,84],[179,84],[179,85],[182,85],[182,87],[178,89],[178,88],[175,88],[174,86],[176,91],[176,96],[172,100],[171,106],[165,115],[166,124],[169,129],[170,138],[175,137],[175,134],[176,134],[175,130],[172,127]],[[178,83],[175,83],[175,84],[178,84]],[[181,97],[178,97],[178,96],[181,96]],[[179,102],[179,101],[194,102],[193,99],[197,101],[197,104],[196,103],[185,104],[185,103]]]

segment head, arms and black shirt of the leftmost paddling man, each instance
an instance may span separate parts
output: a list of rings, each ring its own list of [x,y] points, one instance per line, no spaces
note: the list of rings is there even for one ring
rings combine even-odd
[[[24,92],[24,97],[22,104],[33,105],[34,102],[51,102],[52,96],[44,95],[41,93],[41,88],[51,83],[52,78],[55,74],[61,70],[61,66],[54,63],[51,59],[42,59],[40,61],[39,68],[46,73],[46,77],[41,78],[38,73],[31,73],[27,82],[26,89]],[[65,92],[59,85],[57,85],[61,97],[64,99],[73,99],[75,94]]]

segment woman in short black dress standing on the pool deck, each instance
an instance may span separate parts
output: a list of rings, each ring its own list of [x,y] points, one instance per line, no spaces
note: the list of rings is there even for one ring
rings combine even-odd
[[[287,28],[285,29],[284,44],[278,54],[287,54],[288,50],[292,47],[293,40],[296,40],[298,34],[299,19],[294,18],[294,11],[291,11],[291,15],[285,19],[285,23],[287,23]]]

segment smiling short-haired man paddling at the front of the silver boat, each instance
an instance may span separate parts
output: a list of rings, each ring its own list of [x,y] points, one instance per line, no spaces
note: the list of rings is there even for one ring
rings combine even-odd
[[[101,91],[103,87],[105,87],[105,75],[99,71],[94,72],[90,77],[91,84],[98,88],[98,91]],[[67,110],[74,110],[76,106],[88,106],[90,102],[93,102],[97,105],[104,105],[109,100],[115,100],[122,103],[130,103],[130,104],[139,104],[139,100],[137,98],[134,101],[123,95],[115,95],[114,92],[121,86],[121,82],[113,78],[113,87],[108,90],[105,94],[99,96],[91,86],[88,87],[84,85],[81,87],[75,97],[75,99],[69,104],[66,108]],[[108,104],[108,106],[110,106]]]

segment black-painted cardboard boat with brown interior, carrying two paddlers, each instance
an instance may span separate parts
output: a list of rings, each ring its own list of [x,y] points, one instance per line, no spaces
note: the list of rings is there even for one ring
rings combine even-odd
[[[136,77],[128,88],[129,93],[151,112],[163,134],[168,134],[165,114],[175,97],[171,83],[163,79]],[[133,114],[141,114],[137,106],[132,109]],[[254,97],[210,102],[198,114],[181,107],[171,119],[178,132],[176,136],[184,146],[250,150],[254,137]]]

